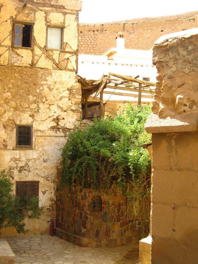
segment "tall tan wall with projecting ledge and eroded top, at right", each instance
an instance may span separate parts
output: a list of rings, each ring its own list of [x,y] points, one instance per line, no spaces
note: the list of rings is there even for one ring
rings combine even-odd
[[[152,133],[151,263],[197,263],[198,28],[159,38]]]

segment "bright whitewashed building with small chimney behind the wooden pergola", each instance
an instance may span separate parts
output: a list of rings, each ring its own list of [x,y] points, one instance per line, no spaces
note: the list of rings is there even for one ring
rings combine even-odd
[[[79,54],[78,74],[83,78],[95,80],[100,79],[103,74],[108,75],[109,72],[131,77],[139,75],[138,79],[155,83],[157,69],[152,64],[152,50],[125,49],[122,32],[117,34],[116,40],[116,48],[110,48],[102,55]],[[112,89],[106,88],[105,91]],[[104,100],[108,100],[111,96],[110,100],[115,101],[137,101],[137,97],[109,95],[105,94],[105,91]],[[142,98],[142,101],[152,101],[152,99]]]

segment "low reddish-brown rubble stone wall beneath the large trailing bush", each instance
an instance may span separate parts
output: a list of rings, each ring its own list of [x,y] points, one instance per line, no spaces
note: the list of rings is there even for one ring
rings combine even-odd
[[[97,197],[101,198],[101,210],[94,205]],[[106,194],[93,189],[73,188],[68,191],[65,188],[57,196],[55,233],[82,247],[137,243],[142,221],[136,219],[131,210],[132,202],[119,190]]]

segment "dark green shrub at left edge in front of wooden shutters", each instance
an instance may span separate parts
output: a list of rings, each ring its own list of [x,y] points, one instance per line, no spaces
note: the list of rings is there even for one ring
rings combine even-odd
[[[13,226],[19,234],[26,234],[29,230],[25,230],[25,218],[39,219],[43,208],[39,208],[38,197],[26,197],[24,205],[12,195],[12,180],[10,169],[0,172],[0,230]]]

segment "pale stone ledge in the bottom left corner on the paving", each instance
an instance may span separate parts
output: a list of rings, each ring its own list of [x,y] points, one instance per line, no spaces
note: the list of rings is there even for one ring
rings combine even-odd
[[[12,264],[15,263],[15,254],[12,252],[7,240],[5,238],[0,239],[0,263]]]

